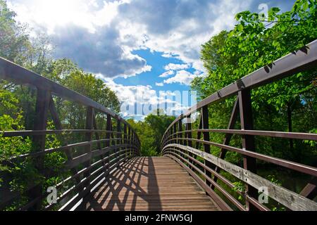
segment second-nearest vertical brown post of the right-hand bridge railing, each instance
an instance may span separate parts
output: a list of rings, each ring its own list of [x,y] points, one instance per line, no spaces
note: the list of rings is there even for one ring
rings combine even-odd
[[[202,129],[209,129],[209,115],[208,115],[208,105],[205,105],[201,108],[201,125]],[[210,141],[209,132],[203,132],[204,141]],[[210,146],[209,144],[204,143],[204,151],[210,154]],[[213,164],[205,160],[206,167],[213,168]],[[211,178],[211,172],[204,169],[206,176]],[[211,182],[206,180],[206,184],[211,186]]]

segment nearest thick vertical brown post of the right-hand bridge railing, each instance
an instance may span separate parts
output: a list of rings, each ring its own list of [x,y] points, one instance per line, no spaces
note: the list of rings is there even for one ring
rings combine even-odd
[[[253,117],[252,117],[252,105],[251,105],[251,90],[244,89],[239,91],[239,108],[240,108],[240,122],[242,130],[253,130]],[[254,136],[252,135],[243,135],[242,136],[242,148],[245,150],[255,151]],[[243,167],[251,172],[256,174],[256,159],[250,158],[249,156],[244,156],[243,158]],[[256,188],[247,185],[246,188],[247,195],[252,198],[258,199],[258,191]],[[246,200],[246,205],[248,210],[257,210],[257,208],[250,204]]]

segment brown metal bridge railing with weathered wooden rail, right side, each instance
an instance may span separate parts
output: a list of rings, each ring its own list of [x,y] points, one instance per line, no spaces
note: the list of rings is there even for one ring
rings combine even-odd
[[[289,210],[316,211],[317,203],[312,199],[316,197],[317,193],[317,168],[256,153],[254,139],[256,136],[267,136],[317,141],[317,134],[254,130],[251,108],[252,89],[289,77],[297,72],[316,68],[316,65],[317,40],[205,98],[170,124],[161,141],[162,155],[180,163],[223,210],[232,210],[232,208],[269,210],[265,204],[259,202],[259,190],[265,186],[268,188],[268,197]],[[209,106],[232,96],[237,96],[237,99],[228,129],[210,129]],[[199,115],[199,129],[192,129],[190,119],[192,115]],[[235,129],[238,115],[240,115],[241,129]],[[210,141],[211,135],[219,133],[225,134],[223,143]],[[242,148],[230,146],[232,135],[241,136]],[[203,145],[204,150],[199,150],[200,145]],[[220,148],[220,155],[211,155],[211,146]],[[243,158],[243,167],[226,161],[225,156],[228,152],[240,154]],[[257,160],[308,174],[311,176],[311,181],[300,193],[295,193],[259,176],[256,173]],[[221,172],[235,177],[244,184],[245,188],[235,188],[235,184]],[[244,202],[238,200],[237,196],[228,190],[235,190],[235,194],[240,195]]]

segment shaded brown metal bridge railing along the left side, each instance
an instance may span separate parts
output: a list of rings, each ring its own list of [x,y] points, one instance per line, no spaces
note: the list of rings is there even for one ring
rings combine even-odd
[[[23,163],[23,160],[32,159],[37,172],[42,174],[47,181],[51,176],[58,176],[58,172],[48,175],[44,171],[44,157],[52,153],[65,153],[67,160],[63,163],[61,170],[69,174],[55,186],[59,190],[56,199],[59,209],[54,208],[56,204],[46,203],[45,198],[49,193],[44,190],[43,182],[36,184],[32,181],[30,181],[30,186],[23,191],[6,190],[5,192],[4,189],[1,189],[0,209],[4,210],[20,200],[22,196],[26,196],[25,204],[20,205],[18,210],[70,210],[76,207],[92,191],[92,188],[106,179],[113,169],[129,158],[139,155],[139,138],[130,124],[103,105],[4,58],[0,58],[0,79],[30,86],[35,88],[37,93],[34,129],[0,131],[1,138],[30,137],[32,145],[35,147],[30,153],[15,156],[10,159],[10,162],[3,163],[7,163],[7,166],[10,167],[16,166],[19,162]],[[63,129],[53,96],[86,108],[85,129]],[[104,116],[106,129],[98,129],[97,114]],[[54,122],[56,130],[47,130],[49,116]],[[63,136],[75,134],[82,135],[85,140],[68,143],[69,140],[63,138]],[[45,143],[48,135],[59,136],[61,146],[46,149]],[[0,174],[11,178],[11,174],[4,172]]]

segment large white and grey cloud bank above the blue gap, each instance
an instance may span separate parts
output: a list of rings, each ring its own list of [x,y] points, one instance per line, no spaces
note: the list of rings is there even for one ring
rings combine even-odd
[[[35,30],[65,37],[56,47],[61,53],[58,56],[76,59],[78,51],[70,55],[69,44],[74,46],[85,41],[97,46],[101,42],[97,49],[86,44],[82,50],[98,62],[98,70],[90,71],[102,72],[105,77],[128,77],[149,71],[144,61],[131,53],[135,49],[163,52],[163,57],[178,58],[204,72],[199,60],[201,44],[221,30],[233,27],[235,13],[249,9],[252,1],[237,4],[234,0],[8,0],[8,4],[18,13],[18,21],[29,23]],[[69,27],[82,27],[96,36],[102,32],[108,36],[96,40],[94,35],[87,34],[85,37],[89,40],[81,40]],[[111,32],[115,34],[113,37]],[[85,70],[95,68],[92,63],[88,67],[83,59],[75,61]],[[105,72],[109,70],[110,75]]]

